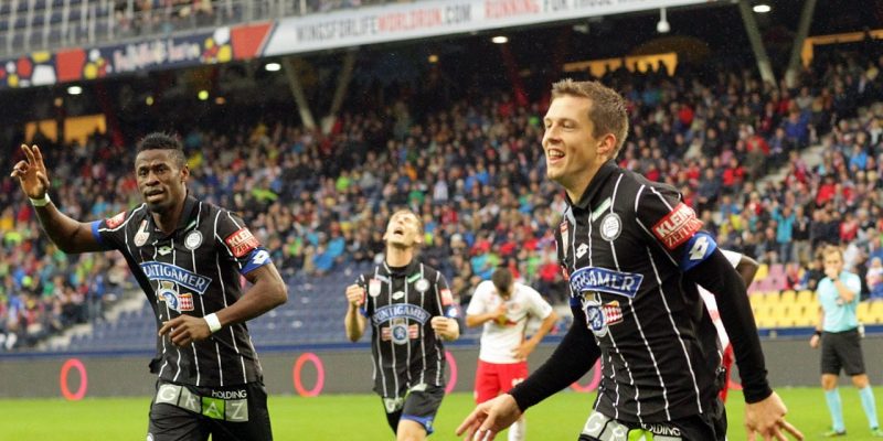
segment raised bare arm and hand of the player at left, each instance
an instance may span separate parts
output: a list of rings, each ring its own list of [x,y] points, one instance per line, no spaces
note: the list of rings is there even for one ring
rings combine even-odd
[[[12,168],[11,176],[19,179],[22,191],[31,198],[40,225],[50,240],[67,254],[104,250],[93,236],[91,224],[66,216],[49,201],[49,172],[40,148],[22,144],[21,150],[24,152],[24,160]]]

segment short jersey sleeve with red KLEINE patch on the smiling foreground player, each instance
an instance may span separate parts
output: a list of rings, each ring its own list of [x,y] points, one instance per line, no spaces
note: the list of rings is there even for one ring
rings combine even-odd
[[[646,185],[638,193],[635,215],[650,239],[671,257],[681,271],[705,261],[717,248],[702,220],[673,189]]]

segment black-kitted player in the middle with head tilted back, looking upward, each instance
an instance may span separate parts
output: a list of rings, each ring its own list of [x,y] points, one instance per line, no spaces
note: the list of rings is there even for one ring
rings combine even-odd
[[[344,326],[355,342],[371,322],[374,391],[386,421],[396,439],[423,440],[445,396],[442,340],[459,337],[459,310],[445,277],[414,256],[423,226],[413,212],[393,213],[383,239],[383,263],[347,288]]]

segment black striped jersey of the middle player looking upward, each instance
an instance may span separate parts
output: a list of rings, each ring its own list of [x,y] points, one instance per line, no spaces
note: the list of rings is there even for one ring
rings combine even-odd
[[[374,391],[402,398],[417,385],[445,387],[445,347],[429,323],[458,314],[445,276],[412,260],[404,268],[377,266],[355,283],[365,290],[361,313],[373,330]]]

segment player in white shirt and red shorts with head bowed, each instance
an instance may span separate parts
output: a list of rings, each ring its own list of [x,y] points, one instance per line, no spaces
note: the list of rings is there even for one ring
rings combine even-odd
[[[525,340],[528,320],[541,319],[540,329]],[[488,401],[509,391],[528,377],[528,355],[552,330],[557,314],[536,290],[515,282],[508,268],[500,267],[478,284],[469,308],[466,325],[485,325],[476,372],[476,402]],[[524,440],[524,417],[509,428],[509,440]]]

